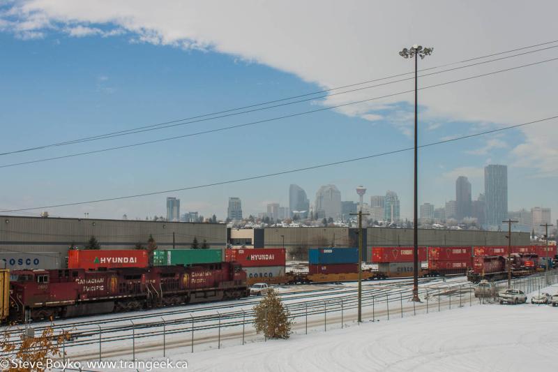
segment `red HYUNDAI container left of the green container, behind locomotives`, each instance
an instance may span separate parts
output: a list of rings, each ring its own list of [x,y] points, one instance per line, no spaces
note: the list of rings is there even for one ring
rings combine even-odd
[[[148,267],[149,255],[143,249],[91,249],[68,251],[68,269],[107,269],[116,267]]]

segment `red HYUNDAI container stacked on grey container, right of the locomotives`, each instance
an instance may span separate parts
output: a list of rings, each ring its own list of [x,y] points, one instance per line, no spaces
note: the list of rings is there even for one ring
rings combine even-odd
[[[225,261],[239,262],[248,279],[285,276],[285,248],[226,249]]]

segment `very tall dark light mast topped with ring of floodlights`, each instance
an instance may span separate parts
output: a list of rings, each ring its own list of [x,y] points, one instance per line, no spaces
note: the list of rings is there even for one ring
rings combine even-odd
[[[414,216],[413,216],[413,301],[420,302],[418,298],[418,57],[423,59],[432,54],[433,47],[413,45],[409,49],[403,48],[399,55],[405,59],[414,58]]]

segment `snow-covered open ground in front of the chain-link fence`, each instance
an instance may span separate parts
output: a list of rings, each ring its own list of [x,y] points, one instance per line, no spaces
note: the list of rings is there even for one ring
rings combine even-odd
[[[557,329],[550,305],[489,304],[174,359],[192,371],[555,371]]]

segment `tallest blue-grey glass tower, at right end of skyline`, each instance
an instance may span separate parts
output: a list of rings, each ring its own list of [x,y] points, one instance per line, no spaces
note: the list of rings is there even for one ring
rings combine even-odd
[[[487,165],[484,168],[485,218],[489,226],[502,225],[508,217],[508,167]]]

